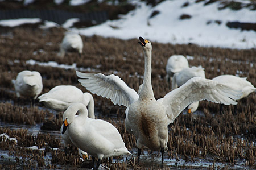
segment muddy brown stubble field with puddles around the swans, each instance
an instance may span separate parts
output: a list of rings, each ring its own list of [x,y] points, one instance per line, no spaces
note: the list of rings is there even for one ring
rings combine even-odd
[[[60,137],[61,115],[30,99],[16,98],[11,83],[20,71],[38,71],[43,77],[43,93],[57,85],[74,85],[86,89],[77,81],[76,70],[81,72],[116,74],[128,86],[138,90],[144,74],[144,55],[138,39],[120,40],[99,36],[85,37],[84,51],[67,53],[64,59],[57,56],[65,30],[41,30],[36,26],[0,28],[0,134],[6,133],[14,140],[0,137],[0,169],[77,169],[82,161],[77,150],[70,146],[64,154]],[[138,35],[138,37],[141,35]],[[146,38],[146,37],[144,37]],[[199,47],[194,44],[172,45],[152,42],[152,88],[155,98],[170,92],[164,80],[168,57],[174,54],[188,56],[189,66],[201,65],[207,78],[221,74],[247,77],[256,86],[256,50]],[[36,61],[36,64],[31,64]],[[76,69],[45,66],[43,63],[72,65]],[[35,63],[35,62],[34,62]],[[133,135],[125,132],[125,107],[115,106],[110,100],[93,94],[96,117],[113,123],[122,135],[130,157],[104,160],[110,169],[253,169],[256,168],[256,94],[225,106],[219,114],[219,105],[200,102],[194,115],[181,113],[169,126],[168,152],[164,164],[160,154],[144,148],[141,164],[137,163],[137,148]],[[60,115],[56,118],[56,115]],[[43,126],[43,127],[42,127]],[[40,129],[41,128],[41,129]],[[41,150],[31,150],[37,146]]]

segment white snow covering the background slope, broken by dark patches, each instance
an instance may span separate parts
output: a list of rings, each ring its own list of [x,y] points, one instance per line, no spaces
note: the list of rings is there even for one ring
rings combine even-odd
[[[86,3],[86,1],[72,0],[72,5],[82,2]],[[195,43],[202,46],[237,49],[256,48],[256,31],[242,31],[240,28],[226,26],[227,22],[256,23],[256,10],[249,8],[218,10],[221,1],[204,5],[205,1],[196,3],[188,0],[172,0],[163,1],[154,7],[146,5],[146,2],[130,2],[136,5],[135,10],[122,15],[121,19],[108,20],[97,26],[79,29],[70,28],[72,22],[77,21],[70,19],[63,26],[86,36],[96,34],[121,39],[142,36],[161,43]],[[185,2],[189,2],[189,5],[183,7]],[[150,17],[154,11],[159,13]],[[180,19],[183,14],[188,14],[191,18]],[[3,22],[6,26],[7,21],[0,21],[0,25],[3,25]],[[13,21],[9,22],[12,26]],[[55,26],[55,24],[50,25]],[[47,25],[44,26],[46,27]]]

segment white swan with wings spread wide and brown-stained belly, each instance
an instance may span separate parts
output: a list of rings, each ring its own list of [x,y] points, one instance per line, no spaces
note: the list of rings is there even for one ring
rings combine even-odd
[[[139,94],[129,88],[118,76],[111,74],[76,72],[82,86],[98,96],[110,98],[114,104],[126,106],[125,126],[137,139],[138,160],[142,146],[167,151],[168,128],[190,103],[207,99],[225,105],[236,104],[241,92],[217,81],[195,77],[163,98],[155,99],[151,85],[151,42],[139,38],[145,59],[144,80]],[[230,99],[233,98],[233,99]]]

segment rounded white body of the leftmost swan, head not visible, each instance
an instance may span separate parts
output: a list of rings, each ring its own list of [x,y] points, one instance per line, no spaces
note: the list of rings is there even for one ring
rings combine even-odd
[[[27,96],[36,99],[43,90],[41,74],[36,71],[22,71],[12,82],[17,97]]]

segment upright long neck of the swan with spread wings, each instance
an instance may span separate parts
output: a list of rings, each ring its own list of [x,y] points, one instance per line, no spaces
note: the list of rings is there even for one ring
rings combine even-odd
[[[152,73],[152,52],[151,50],[144,49],[144,55],[145,55],[145,70],[144,70],[144,79],[143,79],[143,86],[141,89],[141,93],[139,97],[141,99],[154,99],[154,92],[152,89],[152,82],[151,82],[151,73]]]

